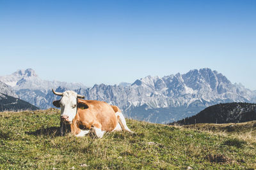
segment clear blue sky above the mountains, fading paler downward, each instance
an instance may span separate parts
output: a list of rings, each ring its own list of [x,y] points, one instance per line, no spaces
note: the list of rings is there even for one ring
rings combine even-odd
[[[0,0],[0,58],[87,86],[209,67],[256,90],[256,1]]]

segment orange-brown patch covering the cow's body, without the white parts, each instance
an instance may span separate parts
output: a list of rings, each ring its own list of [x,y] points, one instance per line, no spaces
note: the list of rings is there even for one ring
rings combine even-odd
[[[103,101],[87,101],[79,100],[88,106],[86,109],[79,109],[79,118],[83,121],[89,121],[90,124],[93,121],[97,121],[102,125],[102,131],[113,131],[115,129],[117,118],[113,108]],[[89,127],[90,128],[90,127]]]

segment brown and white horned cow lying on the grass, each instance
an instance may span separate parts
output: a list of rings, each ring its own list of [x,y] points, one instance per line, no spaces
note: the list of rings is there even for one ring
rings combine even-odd
[[[132,132],[117,106],[111,106],[103,101],[83,100],[84,96],[71,90],[61,93],[52,89],[52,92],[62,96],[52,104],[61,108],[61,122],[70,124],[71,132],[76,136],[81,137],[90,133],[90,136],[102,138],[105,132],[122,130]],[[63,134],[63,127],[60,130]]]

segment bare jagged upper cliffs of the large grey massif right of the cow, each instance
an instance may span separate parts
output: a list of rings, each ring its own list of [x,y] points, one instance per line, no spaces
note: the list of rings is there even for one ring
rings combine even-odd
[[[145,87],[156,91],[170,89],[166,94],[175,94],[175,96],[198,92],[199,96],[214,96],[225,92],[233,93],[236,89],[236,85],[233,85],[223,74],[209,68],[192,69],[185,74],[170,74],[163,78],[146,76],[134,81],[131,86]]]

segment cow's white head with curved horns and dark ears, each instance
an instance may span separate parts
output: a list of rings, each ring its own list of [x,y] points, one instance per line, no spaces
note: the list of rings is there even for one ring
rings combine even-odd
[[[55,92],[52,89],[52,92],[58,96],[62,96],[60,100],[53,101],[53,105],[57,108],[61,108],[61,115],[60,118],[62,121],[71,124],[72,120],[76,117],[77,112],[77,98],[83,98],[84,96],[81,96],[77,94],[76,92],[67,90],[63,93],[61,92]]]

